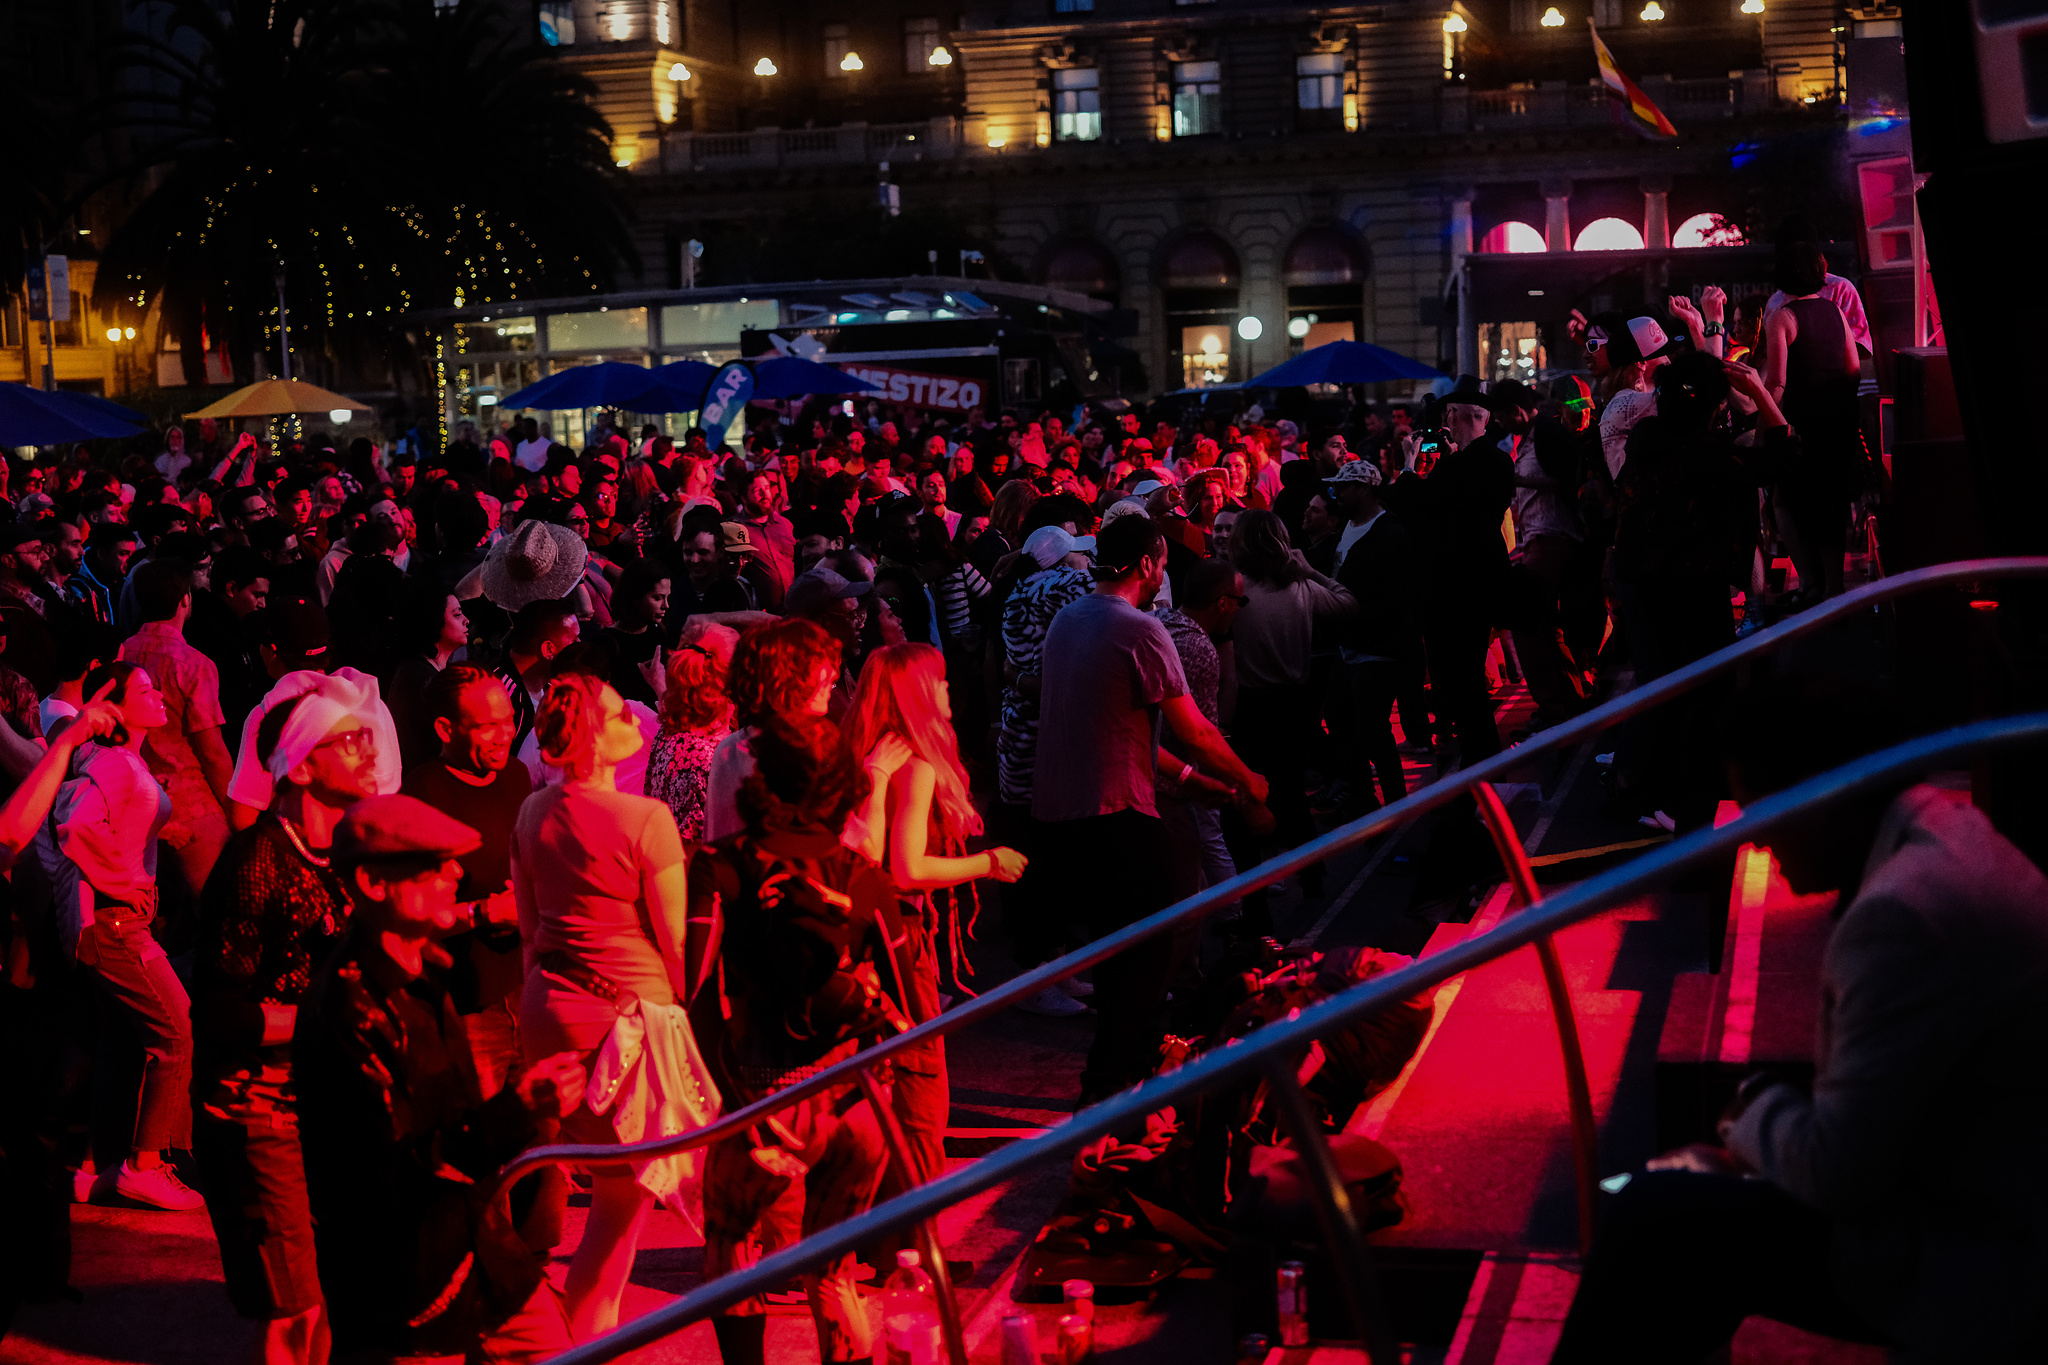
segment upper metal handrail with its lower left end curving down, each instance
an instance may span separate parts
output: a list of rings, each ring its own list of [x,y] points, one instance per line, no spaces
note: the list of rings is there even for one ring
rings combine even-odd
[[[877,1062],[885,1062],[893,1058],[897,1052],[903,1052],[905,1048],[911,1048],[932,1038],[944,1038],[946,1033],[954,1033],[967,1027],[969,1023],[977,1023],[989,1015],[1001,1013],[1012,1005],[1028,1001],[1047,986],[1073,976],[1075,972],[1085,972],[1098,962],[1114,958],[1116,954],[1124,952],[1126,948],[1133,948],[1135,943],[1143,943],[1145,939],[1165,933],[1167,929],[1176,929],[1182,923],[1198,921],[1206,915],[1212,915],[1214,911],[1241,900],[1253,890],[1272,886],[1274,882],[1286,880],[1288,876],[1300,872],[1311,864],[1319,864],[1325,857],[1333,857],[1352,847],[1358,847],[1366,839],[1372,839],[1374,835],[1391,829],[1393,825],[1399,825],[1417,814],[1425,814],[1430,810],[1446,806],[1458,796],[1462,796],[1466,788],[1473,788],[1481,782],[1499,782],[1518,767],[1526,767],[1538,755],[1573,745],[1581,739],[1587,739],[1599,731],[1610,729],[1620,720],[1626,720],[1661,702],[1667,702],[1673,696],[1692,692],[1700,684],[1706,684],[1718,677],[1720,673],[1726,673],[1745,659],[1767,653],[1780,645],[1788,645],[1790,641],[1812,634],[1823,626],[1833,624],[1835,620],[1853,616],[1866,608],[1878,606],[1892,598],[1903,598],[1923,587],[1939,587],[1946,583],[1974,583],[1980,579],[1997,579],[1997,577],[2048,577],[2048,557],[1966,559],[1950,565],[1915,569],[1911,573],[1901,573],[1896,577],[1880,579],[1876,583],[1866,583],[1864,587],[1847,591],[1839,598],[1831,598],[1825,604],[1806,608],[1798,616],[1778,622],[1767,630],[1757,630],[1747,641],[1737,641],[1735,645],[1729,645],[1726,649],[1720,649],[1708,655],[1706,659],[1696,659],[1694,663],[1688,663],[1681,669],[1673,669],[1671,673],[1665,673],[1663,677],[1649,681],[1632,692],[1626,692],[1563,724],[1532,735],[1528,741],[1516,745],[1513,749],[1503,749],[1501,753],[1481,759],[1470,767],[1460,767],[1454,774],[1446,774],[1438,782],[1432,782],[1430,786],[1417,792],[1409,792],[1407,796],[1389,806],[1380,806],[1378,810],[1360,817],[1350,825],[1343,825],[1339,829],[1329,831],[1327,835],[1319,835],[1309,843],[1288,849],[1286,853],[1280,853],[1278,857],[1272,857],[1270,862],[1264,862],[1257,868],[1251,868],[1249,872],[1239,872],[1227,882],[1219,882],[1217,886],[1198,890],[1186,900],[1180,900],[1163,911],[1157,911],[1153,915],[1147,915],[1145,919],[1124,925],[1122,929],[1106,937],[1100,937],[1094,943],[1087,943],[1085,948],[1073,950],[1065,958],[1057,958],[1028,972],[1012,976],[1004,984],[985,990],[983,995],[967,1001],[965,1005],[956,1005],[934,1019],[926,1019],[907,1033],[897,1033],[895,1038],[887,1038],[872,1048],[856,1052],[844,1062],[827,1066],[825,1070],[817,1072],[807,1081],[799,1081],[797,1085],[784,1091],[776,1091],[774,1095],[758,1099],[743,1109],[735,1109],[733,1113],[727,1113],[725,1117],[705,1128],[696,1128],[686,1134],[674,1134],[668,1138],[653,1138],[647,1142],[627,1142],[616,1146],[559,1144],[559,1146],[543,1146],[543,1148],[532,1148],[528,1152],[520,1152],[504,1166],[504,1171],[500,1171],[498,1193],[504,1195],[512,1187],[512,1183],[518,1181],[522,1175],[526,1175],[537,1166],[553,1162],[588,1164],[588,1162],[616,1162],[616,1160],[647,1158],[647,1156],[668,1156],[672,1152],[688,1152],[719,1142],[723,1138],[729,1138],[737,1132],[752,1128],[754,1124],[760,1124],[770,1113],[778,1113],[780,1109],[786,1109],[803,1099],[809,1099],[834,1087],[852,1085],[856,1072],[866,1070]]]

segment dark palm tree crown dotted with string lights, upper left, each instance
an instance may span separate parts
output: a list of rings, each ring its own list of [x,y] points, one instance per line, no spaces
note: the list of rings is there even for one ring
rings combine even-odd
[[[612,284],[631,239],[594,90],[512,41],[496,0],[436,8],[170,0],[164,37],[123,45],[111,121],[139,147],[127,170],[158,182],[98,293],[160,295],[190,383],[203,332],[242,370],[272,344],[281,268],[293,340],[334,358],[410,309]],[[487,119],[543,194],[449,145]]]

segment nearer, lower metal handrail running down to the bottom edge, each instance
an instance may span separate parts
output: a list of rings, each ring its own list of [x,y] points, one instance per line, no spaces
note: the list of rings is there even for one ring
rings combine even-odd
[[[1438,986],[1452,976],[1485,966],[1487,962],[1493,962],[1495,958],[1501,958],[1518,948],[1591,919],[1616,900],[1649,890],[1677,872],[1686,872],[1724,853],[1733,853],[1745,843],[1755,843],[1772,829],[1792,817],[1798,817],[1810,806],[1855,796],[1872,788],[1882,788],[1898,778],[1927,772],[1944,761],[1974,755],[1982,749],[2025,741],[2048,741],[2048,712],[2009,716],[2003,720],[1980,720],[1976,724],[1939,735],[1927,735],[1882,753],[1855,759],[1853,763],[1845,763],[1843,767],[1821,774],[1819,778],[1810,778],[1790,790],[1755,802],[1739,819],[1720,825],[1718,829],[1700,829],[1686,839],[1667,843],[1661,849],[1636,857],[1634,862],[1591,876],[1585,882],[1530,907],[1522,915],[1503,919],[1495,929],[1479,937],[1454,943],[1434,958],[1421,958],[1384,976],[1374,976],[1372,980],[1352,986],[1350,990],[1319,1005],[1311,1005],[1296,1015],[1268,1023],[1247,1040],[1229,1048],[1217,1048],[1180,1070],[1135,1085],[1128,1091],[1094,1105],[1092,1109],[1075,1113],[1069,1121],[1042,1136],[1014,1142],[1008,1148],[983,1156],[971,1166],[963,1166],[944,1179],[905,1191],[858,1218],[813,1232],[803,1242],[764,1257],[745,1271],[723,1275],[717,1281],[700,1285],[680,1300],[653,1310],[651,1314],[621,1324],[598,1340],[555,1357],[555,1365],[600,1365],[600,1361],[616,1359],[627,1351],[707,1318],[721,1308],[762,1293],[772,1285],[784,1283],[793,1275],[854,1252],[874,1238],[899,1232],[913,1222],[934,1218],[940,1209],[961,1203],[983,1189],[1001,1185],[1042,1160],[1071,1156],[1102,1134],[1118,1132],[1126,1126],[1143,1121],[1145,1115],[1157,1111],[1161,1105],[1182,1101],[1204,1091],[1214,1091],[1223,1085],[1247,1081],[1253,1074],[1266,1074],[1270,1081],[1278,1083],[1282,1105],[1286,1105],[1288,1085],[1292,1083],[1292,1056],[1335,1029],[1352,1025],[1378,1009],[1405,1001],[1419,990]],[[1290,1124],[1290,1128],[1294,1126]],[[1300,1138],[1300,1134],[1296,1134],[1296,1138]],[[594,1150],[610,1152],[616,1160],[621,1148],[612,1146]],[[1350,1218],[1348,1205],[1343,1203],[1343,1187],[1335,1185],[1335,1189],[1329,1189],[1329,1183],[1335,1181],[1333,1166],[1329,1166],[1329,1162],[1317,1162],[1315,1152],[1307,1152],[1307,1156],[1311,1158],[1311,1171],[1319,1175],[1319,1179],[1311,1181],[1311,1185],[1315,1187],[1313,1193],[1319,1199],[1319,1212],[1325,1214],[1325,1228],[1329,1228],[1335,1218],[1339,1228],[1339,1238],[1335,1240],[1339,1240],[1339,1244],[1362,1244],[1356,1236],[1356,1220]],[[1356,1271],[1350,1261],[1350,1257],[1339,1257],[1339,1267],[1346,1269],[1346,1297],[1354,1304],[1368,1304],[1372,1295],[1370,1283],[1354,1283]],[[1370,1342],[1376,1330],[1384,1330],[1384,1324],[1362,1322],[1360,1328],[1368,1334],[1366,1338]],[[1382,1355],[1374,1351],[1374,1361],[1380,1359]]]

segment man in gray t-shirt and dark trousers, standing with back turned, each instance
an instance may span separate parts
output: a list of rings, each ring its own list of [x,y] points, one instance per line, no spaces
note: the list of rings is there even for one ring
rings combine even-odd
[[[1174,636],[1147,608],[1165,583],[1165,538],[1124,516],[1096,538],[1096,591],[1061,608],[1044,636],[1032,814],[1044,823],[1047,886],[1085,937],[1167,905],[1171,843],[1153,802],[1161,720],[1176,749],[1266,800],[1266,780],[1188,696]],[[1081,1103],[1159,1064],[1171,935],[1096,968],[1096,1042]]]

